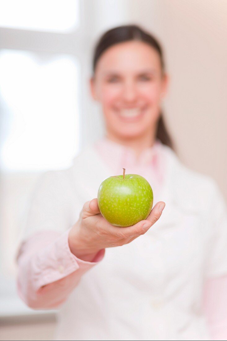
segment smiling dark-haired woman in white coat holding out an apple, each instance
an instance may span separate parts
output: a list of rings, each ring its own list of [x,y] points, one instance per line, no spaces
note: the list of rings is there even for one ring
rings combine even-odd
[[[57,340],[220,340],[226,207],[215,182],[171,149],[161,47],[137,26],[114,28],[96,46],[93,71],[106,134],[37,183],[18,254],[19,295],[34,309],[59,309]],[[123,167],[150,182],[157,203],[121,228],[101,216],[96,195]]]

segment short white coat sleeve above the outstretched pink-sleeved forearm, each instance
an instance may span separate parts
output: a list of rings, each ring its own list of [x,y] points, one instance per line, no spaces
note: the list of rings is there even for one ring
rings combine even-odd
[[[64,232],[71,227],[72,198],[70,185],[61,171],[48,171],[37,180],[28,203],[27,220],[22,239],[41,231]],[[75,202],[79,214],[79,203]]]

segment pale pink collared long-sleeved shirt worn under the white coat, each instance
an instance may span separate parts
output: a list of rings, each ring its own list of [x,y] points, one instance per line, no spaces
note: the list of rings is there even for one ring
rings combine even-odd
[[[136,173],[152,183],[158,196],[165,176],[165,160],[160,158],[160,142],[147,148],[136,159],[134,150],[102,138],[95,148],[113,174],[121,174],[122,161],[126,174]],[[131,171],[133,169],[133,172]],[[136,170],[136,171],[135,171]],[[92,198],[91,198],[92,199]],[[154,197],[155,203],[155,197]],[[100,250],[92,262],[86,262],[71,253],[69,230],[42,231],[22,242],[18,252],[18,293],[34,309],[58,307],[80,281],[81,276],[102,261],[105,250]],[[56,267],[56,264],[59,266]],[[209,279],[204,289],[204,309],[214,340],[227,337],[227,277]]]

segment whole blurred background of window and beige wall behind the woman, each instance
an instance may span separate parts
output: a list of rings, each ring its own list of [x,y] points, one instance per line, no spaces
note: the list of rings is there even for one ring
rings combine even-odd
[[[53,337],[55,313],[17,297],[15,254],[37,178],[69,167],[103,133],[89,94],[92,50],[122,24],[161,41],[170,75],[163,111],[176,152],[227,199],[226,0],[0,0],[1,340]]]

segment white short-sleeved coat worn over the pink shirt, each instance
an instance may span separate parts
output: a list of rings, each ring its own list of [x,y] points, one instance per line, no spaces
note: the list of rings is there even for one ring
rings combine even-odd
[[[227,274],[226,206],[210,177],[162,151],[167,172],[154,198],[166,203],[160,220],[133,242],[107,248],[82,276],[59,309],[56,340],[210,340],[201,297],[206,277]],[[69,169],[45,173],[27,234],[72,226],[112,175],[92,145]]]

